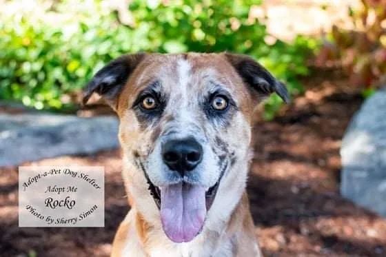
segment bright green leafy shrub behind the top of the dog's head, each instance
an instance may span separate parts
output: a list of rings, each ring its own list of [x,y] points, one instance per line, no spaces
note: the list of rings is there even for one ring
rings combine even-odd
[[[314,41],[298,37],[292,44],[267,45],[265,26],[249,17],[252,3],[256,1],[134,0],[131,26],[121,23],[116,12],[107,12],[101,1],[94,1],[92,10],[61,1],[47,12],[73,11],[57,23],[28,14],[0,17],[0,98],[65,110],[104,63],[139,51],[250,54],[286,81],[292,94],[302,92],[296,78],[308,72],[305,59]],[[266,118],[280,105],[278,97],[270,98]]]

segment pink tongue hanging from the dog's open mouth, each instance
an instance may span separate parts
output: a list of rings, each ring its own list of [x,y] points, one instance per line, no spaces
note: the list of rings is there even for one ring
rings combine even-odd
[[[161,221],[175,243],[189,242],[199,234],[206,215],[205,188],[178,183],[161,187]]]

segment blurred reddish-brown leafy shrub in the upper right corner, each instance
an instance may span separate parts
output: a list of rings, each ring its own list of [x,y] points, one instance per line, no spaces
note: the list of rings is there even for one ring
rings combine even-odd
[[[334,25],[332,42],[323,43],[316,63],[335,61],[353,85],[368,90],[386,82],[386,0],[361,2],[358,10],[349,10],[353,29]]]

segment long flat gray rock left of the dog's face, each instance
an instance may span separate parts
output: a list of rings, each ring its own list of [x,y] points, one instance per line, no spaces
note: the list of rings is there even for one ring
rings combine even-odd
[[[55,114],[0,114],[0,166],[119,147],[118,119]]]

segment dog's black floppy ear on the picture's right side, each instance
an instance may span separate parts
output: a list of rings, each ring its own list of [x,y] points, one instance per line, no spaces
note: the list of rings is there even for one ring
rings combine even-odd
[[[269,96],[271,93],[276,92],[285,103],[290,102],[290,96],[285,85],[275,79],[270,72],[250,56],[228,53],[225,53],[225,56],[243,81],[256,90],[258,94]]]

